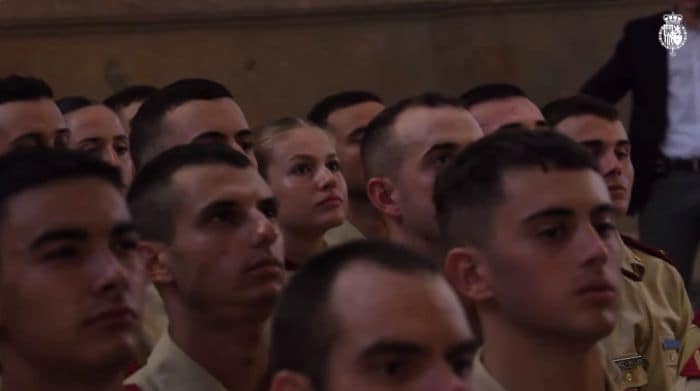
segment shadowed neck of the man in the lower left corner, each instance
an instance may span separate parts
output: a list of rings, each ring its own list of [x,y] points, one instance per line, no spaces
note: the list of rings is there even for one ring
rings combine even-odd
[[[2,351],[3,391],[121,391],[127,362],[108,369],[38,369],[13,352]]]

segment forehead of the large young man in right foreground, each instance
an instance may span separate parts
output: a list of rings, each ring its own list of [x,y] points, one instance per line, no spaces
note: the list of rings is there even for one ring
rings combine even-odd
[[[503,175],[502,214],[521,220],[549,208],[565,208],[588,215],[601,204],[610,203],[603,178],[593,170],[527,168]]]

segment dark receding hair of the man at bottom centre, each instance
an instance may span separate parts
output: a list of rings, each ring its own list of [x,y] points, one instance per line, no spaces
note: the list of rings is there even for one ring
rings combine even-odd
[[[388,242],[349,242],[316,255],[292,277],[273,315],[271,374],[291,370],[306,375],[315,389],[325,389],[328,353],[337,333],[329,301],[338,276],[358,263],[440,276],[434,262]]]

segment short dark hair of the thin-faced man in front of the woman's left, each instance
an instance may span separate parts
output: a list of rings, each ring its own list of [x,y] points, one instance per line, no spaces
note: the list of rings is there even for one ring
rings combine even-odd
[[[148,162],[134,178],[127,202],[144,239],[170,243],[175,234],[177,197],[171,189],[173,175],[186,167],[224,164],[251,167],[242,153],[223,144],[186,144],[169,149]]]

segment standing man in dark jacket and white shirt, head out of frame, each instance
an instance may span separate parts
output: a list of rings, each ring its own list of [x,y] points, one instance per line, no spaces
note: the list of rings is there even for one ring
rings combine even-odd
[[[667,251],[689,285],[700,241],[700,0],[677,0],[674,11],[688,31],[675,56],[658,41],[670,11],[633,20],[582,92],[610,103],[632,92],[630,213],[640,213],[641,239]]]

